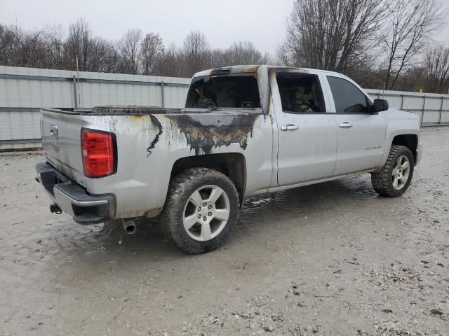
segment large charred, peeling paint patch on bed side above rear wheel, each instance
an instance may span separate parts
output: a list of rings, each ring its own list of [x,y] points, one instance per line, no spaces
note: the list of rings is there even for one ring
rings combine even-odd
[[[166,116],[184,134],[190,150],[199,155],[210,154],[213,148],[239,144],[242,149],[248,146],[248,137],[253,136],[253,126],[260,114],[213,115],[208,116]]]

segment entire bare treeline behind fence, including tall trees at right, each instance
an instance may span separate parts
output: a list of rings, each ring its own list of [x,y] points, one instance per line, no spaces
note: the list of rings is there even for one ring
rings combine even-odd
[[[432,36],[447,27],[442,0],[294,0],[276,57],[249,41],[212,48],[201,31],[182,45],[130,29],[117,41],[95,36],[82,18],[67,29],[0,25],[0,65],[190,77],[235,64],[338,71],[363,87],[448,93],[449,48]],[[281,23],[280,23],[281,24]]]

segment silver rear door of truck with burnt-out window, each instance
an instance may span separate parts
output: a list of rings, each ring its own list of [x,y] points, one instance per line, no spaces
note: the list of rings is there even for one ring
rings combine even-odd
[[[319,72],[272,70],[278,133],[277,180],[286,186],[332,176],[337,148],[334,114],[328,113]]]

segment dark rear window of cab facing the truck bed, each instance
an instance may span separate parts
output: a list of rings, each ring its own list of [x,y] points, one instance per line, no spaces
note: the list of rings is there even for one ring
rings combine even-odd
[[[186,107],[260,108],[257,79],[253,75],[196,77],[190,85]]]

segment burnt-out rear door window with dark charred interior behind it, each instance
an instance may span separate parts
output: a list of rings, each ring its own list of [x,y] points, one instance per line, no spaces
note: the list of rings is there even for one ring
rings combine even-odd
[[[307,73],[277,73],[282,111],[289,113],[326,112],[319,78]]]

